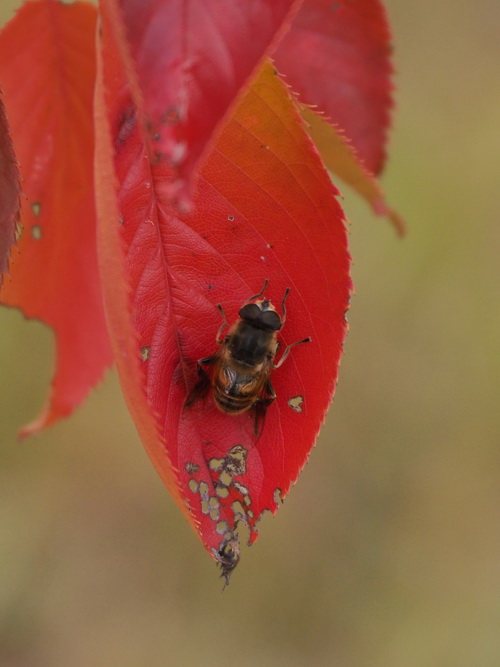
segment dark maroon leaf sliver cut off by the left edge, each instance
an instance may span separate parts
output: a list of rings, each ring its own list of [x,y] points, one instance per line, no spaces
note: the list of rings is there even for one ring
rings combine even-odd
[[[19,168],[10,138],[5,105],[0,98],[0,287],[7,271],[10,249],[16,240],[21,186]]]

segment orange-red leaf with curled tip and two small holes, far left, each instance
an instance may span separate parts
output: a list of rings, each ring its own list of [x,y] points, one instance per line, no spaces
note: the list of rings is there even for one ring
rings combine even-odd
[[[71,413],[112,362],[95,249],[95,26],[91,5],[41,0],[0,34],[0,81],[27,199],[1,298],[57,339],[50,399],[24,435]]]

